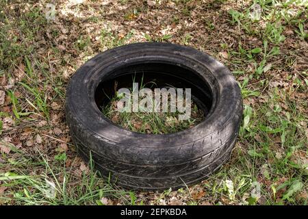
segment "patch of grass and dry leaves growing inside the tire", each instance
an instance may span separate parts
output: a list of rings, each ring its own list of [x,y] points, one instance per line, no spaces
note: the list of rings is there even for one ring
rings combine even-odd
[[[154,95],[153,95],[154,96]],[[183,131],[194,127],[204,119],[203,110],[196,103],[191,102],[191,116],[188,120],[179,120],[180,112],[118,112],[116,105],[121,96],[115,96],[107,105],[103,106],[103,114],[113,123],[140,133],[167,134]],[[161,105],[162,107],[162,105]],[[170,101],[168,101],[170,109]]]

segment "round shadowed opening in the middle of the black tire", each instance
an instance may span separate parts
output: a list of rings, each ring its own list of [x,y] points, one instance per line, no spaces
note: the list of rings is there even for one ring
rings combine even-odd
[[[131,112],[129,113],[129,115],[131,115],[131,124],[128,124],[130,122],[128,122],[127,124],[118,123],[118,120],[113,119],[114,117],[112,117],[116,116],[116,113],[113,112],[114,109],[112,110],[111,108],[111,105],[114,103],[110,103],[110,99],[112,101],[116,100],[116,92],[118,92],[120,88],[128,88],[129,90],[132,90],[131,88],[133,88],[133,83],[138,83],[139,90],[141,89],[140,86],[142,86],[142,88],[150,88],[151,90],[154,90],[155,88],[166,88],[167,90],[170,88],[175,88],[175,90],[177,90],[177,88],[183,88],[184,92],[185,88],[190,88],[192,99],[191,119],[186,121],[181,120],[180,122],[177,119],[175,119],[175,121],[171,120],[170,123],[177,123],[177,127],[175,126],[161,131],[153,131],[151,129],[149,130],[149,125],[145,124],[146,120],[143,120],[142,118],[139,119],[140,114],[142,117],[143,114],[148,115],[149,113],[142,114],[140,112]],[[102,112],[102,114],[105,114],[104,116],[108,118],[112,123],[130,131],[154,134],[175,133],[193,127],[198,123],[201,123],[207,117],[213,102],[211,89],[209,88],[209,86],[207,86],[206,81],[200,75],[198,75],[198,73],[183,66],[165,63],[130,64],[128,66],[123,66],[120,68],[116,68],[116,70],[112,70],[112,72],[110,72],[107,77],[103,78],[103,80],[98,84],[97,89],[94,93],[94,99],[97,103],[97,107],[99,107],[99,110]],[[108,112],[107,114],[105,113],[106,108]],[[168,106],[168,110],[170,110],[170,105]],[[121,114],[121,116],[123,117],[123,113],[117,113],[118,115]],[[157,115],[157,113],[155,112],[152,112],[151,114]],[[169,120],[170,116],[171,118],[173,118],[172,115],[174,114],[175,113],[172,113],[170,115],[168,114],[168,116],[162,116],[164,119],[166,118],[166,120]],[[121,116],[120,118],[122,118]],[[163,122],[165,122],[165,125],[168,126],[170,123],[168,121],[164,121],[164,119]],[[153,118],[153,120],[155,120],[155,118]],[[143,124],[138,125],[138,123]],[[185,125],[183,125],[182,123]],[[138,126],[142,126],[142,130],[139,130]],[[150,128],[152,128],[152,126]],[[164,127],[162,129],[164,129]]]

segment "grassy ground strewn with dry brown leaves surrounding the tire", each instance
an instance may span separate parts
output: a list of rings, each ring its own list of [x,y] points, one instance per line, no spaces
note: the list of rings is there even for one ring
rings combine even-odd
[[[0,205],[307,205],[307,1],[50,2],[0,0]],[[132,192],[101,179],[65,123],[77,68],[146,41],[204,51],[242,89],[231,159],[177,191]]]

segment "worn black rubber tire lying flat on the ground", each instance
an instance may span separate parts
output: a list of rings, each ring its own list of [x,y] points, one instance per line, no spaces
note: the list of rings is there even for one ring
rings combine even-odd
[[[151,135],[105,118],[94,97],[99,84],[123,74],[116,69],[133,69],[137,63],[190,69],[176,76],[209,88],[205,120],[177,133]],[[79,155],[88,162],[91,154],[102,176],[134,190],[176,189],[205,179],[229,158],[242,120],[242,97],[229,70],[201,51],[169,43],[128,44],[100,53],[77,70],[66,91],[66,120]]]

